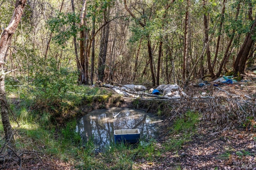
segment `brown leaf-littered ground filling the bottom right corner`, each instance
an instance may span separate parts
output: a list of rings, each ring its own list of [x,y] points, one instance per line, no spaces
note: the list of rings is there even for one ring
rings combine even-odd
[[[256,169],[255,146],[255,133],[242,129],[210,134],[200,132],[177,152],[164,152],[154,162],[142,158],[135,163],[142,170]]]

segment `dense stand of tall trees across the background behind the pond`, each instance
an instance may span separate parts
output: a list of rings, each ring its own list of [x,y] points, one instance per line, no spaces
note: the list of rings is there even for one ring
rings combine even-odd
[[[6,66],[33,78],[54,62],[57,70],[77,70],[80,84],[244,76],[255,64],[254,6],[253,0],[29,1]],[[1,2],[2,28],[13,8],[13,1]]]

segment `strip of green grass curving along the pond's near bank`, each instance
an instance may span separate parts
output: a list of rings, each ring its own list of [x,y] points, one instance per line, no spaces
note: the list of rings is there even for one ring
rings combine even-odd
[[[158,148],[155,140],[151,140],[141,141],[136,147],[111,143],[105,147],[104,152],[96,153],[96,146],[92,143],[92,139],[82,144],[80,135],[75,131],[75,119],[66,123],[64,127],[56,129],[44,126],[45,122],[48,122],[46,112],[41,115],[41,119],[38,119],[40,121],[36,122],[27,119],[29,112],[26,113],[24,109],[21,109],[19,114],[23,115],[19,117],[23,123],[20,127],[14,128],[20,137],[16,139],[16,146],[19,149],[33,149],[42,154],[56,156],[63,161],[73,162],[77,169],[83,170],[130,170],[136,158],[154,162],[166,150],[175,152],[190,140],[190,136],[196,131],[195,125],[198,122],[198,113],[193,112],[188,112],[177,119],[173,127],[175,130],[162,149]],[[178,170],[180,166],[174,168]]]

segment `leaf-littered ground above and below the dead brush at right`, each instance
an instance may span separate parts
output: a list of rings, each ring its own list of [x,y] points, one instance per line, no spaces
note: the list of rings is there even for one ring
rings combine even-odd
[[[205,92],[220,99],[228,94],[232,96],[231,98],[239,96],[241,97],[239,100],[243,99],[244,101],[251,96],[252,100],[255,101],[255,78],[251,77],[234,84],[218,85],[218,88],[191,85],[186,94],[196,97]],[[207,104],[204,106],[200,103],[200,105],[201,108],[208,107]],[[174,152],[163,152],[153,162],[146,161],[146,158],[135,159],[135,167],[138,166],[137,168],[142,170],[256,170],[255,126],[246,128],[243,125],[236,124],[233,128],[220,130],[214,128],[216,128],[214,121],[210,123],[201,121],[197,127],[197,133],[191,137],[190,141],[184,143],[180,149]],[[175,138],[175,136],[170,135],[158,142],[157,149],[164,147],[163,144],[170,138]],[[179,136],[179,134],[176,136]]]

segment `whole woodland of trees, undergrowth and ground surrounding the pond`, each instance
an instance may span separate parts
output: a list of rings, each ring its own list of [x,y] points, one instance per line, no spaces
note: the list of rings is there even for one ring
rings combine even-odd
[[[255,0],[0,0],[0,14],[0,169],[256,167]],[[212,83],[222,76],[232,83]],[[164,117],[161,141],[82,144],[77,119],[120,106]]]

